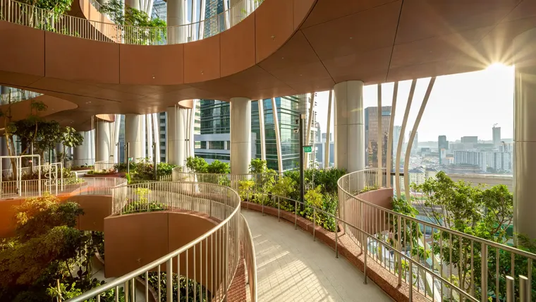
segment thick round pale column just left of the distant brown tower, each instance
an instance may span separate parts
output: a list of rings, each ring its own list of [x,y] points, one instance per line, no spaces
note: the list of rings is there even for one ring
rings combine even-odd
[[[365,169],[363,82],[349,80],[334,86],[335,167],[354,172]]]

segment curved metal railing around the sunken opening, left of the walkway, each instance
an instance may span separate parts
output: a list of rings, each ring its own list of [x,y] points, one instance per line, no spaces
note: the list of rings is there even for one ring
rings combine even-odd
[[[112,203],[115,215],[156,210],[194,211],[218,219],[219,224],[178,250],[68,301],[85,301],[95,297],[99,301],[101,294],[109,289],[116,289],[118,293],[123,284],[123,288],[132,289],[132,293],[126,291],[126,301],[129,301],[128,295],[134,294],[135,277],[145,274],[145,286],[148,288],[149,272],[162,272],[162,265],[165,265],[167,276],[178,272],[176,277],[166,279],[166,301],[173,301],[173,279],[177,278],[176,281],[181,284],[181,276],[185,277],[187,297],[190,296],[188,282],[197,282],[193,286],[193,296],[200,298],[200,301],[226,301],[241,260],[240,246],[243,247],[248,265],[252,289],[250,298],[251,301],[257,301],[255,250],[248,225],[240,215],[240,197],[236,191],[212,183],[140,183],[114,188]],[[188,257],[190,260],[193,257],[193,262],[189,262]],[[117,298],[118,296],[116,301]],[[185,297],[178,299],[188,300]]]

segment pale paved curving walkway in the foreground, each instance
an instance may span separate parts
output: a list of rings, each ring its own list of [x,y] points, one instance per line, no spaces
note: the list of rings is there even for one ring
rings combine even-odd
[[[259,301],[392,301],[333,250],[293,224],[241,210],[255,243]]]

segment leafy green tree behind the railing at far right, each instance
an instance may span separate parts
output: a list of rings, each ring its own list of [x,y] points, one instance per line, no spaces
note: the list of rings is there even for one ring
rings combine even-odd
[[[435,224],[448,227],[455,231],[477,236],[480,238],[505,244],[511,240],[506,229],[511,225],[513,217],[513,196],[506,186],[494,186],[484,189],[482,187],[473,188],[470,183],[464,181],[453,182],[444,172],[439,172],[436,179],[427,179],[425,183],[413,185],[413,191],[421,192],[422,198],[415,198],[414,203],[420,205],[422,214],[426,215],[430,221]],[[404,210],[414,211],[413,205],[395,207],[398,212]],[[434,240],[432,253],[439,256],[441,249],[443,255],[441,262],[444,265],[453,265],[456,268],[456,276],[452,276],[453,282],[458,284],[461,289],[470,291],[471,279],[475,279],[474,284],[482,284],[481,272],[481,248],[480,243],[473,244],[471,250],[470,240],[461,236],[450,235],[444,231],[434,231],[432,234]],[[520,238],[524,238],[520,235]],[[452,241],[450,245],[449,242]],[[441,244],[440,244],[441,243]],[[518,248],[530,249],[530,241],[520,240]],[[525,247],[523,245],[527,245]],[[451,253],[445,253],[445,250],[452,249]],[[450,250],[449,250],[450,251]],[[471,270],[473,262],[473,270]],[[488,284],[494,284],[497,278],[495,263],[499,262],[499,292],[495,292],[494,286],[489,286],[487,290],[489,296],[499,296],[504,298],[506,294],[506,279],[501,276],[509,275],[511,272],[511,254],[499,249],[499,259],[497,259],[497,250],[490,247],[488,250],[487,263],[488,267]],[[514,257],[514,267],[516,279],[519,274],[528,273],[527,260],[523,257]],[[473,274],[473,275],[472,275]],[[536,289],[536,272],[532,270],[532,289]],[[516,281],[517,282],[517,281]],[[482,289],[475,291],[477,297],[480,297]],[[516,289],[516,296],[518,289]],[[446,298],[451,298],[447,296]]]

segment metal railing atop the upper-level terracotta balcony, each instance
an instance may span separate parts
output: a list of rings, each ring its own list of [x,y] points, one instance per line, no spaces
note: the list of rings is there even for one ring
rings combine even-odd
[[[116,25],[59,15],[13,0],[0,0],[0,20],[102,42],[138,45],[182,44],[212,37],[240,23],[264,0],[242,0],[212,18],[164,28]]]

